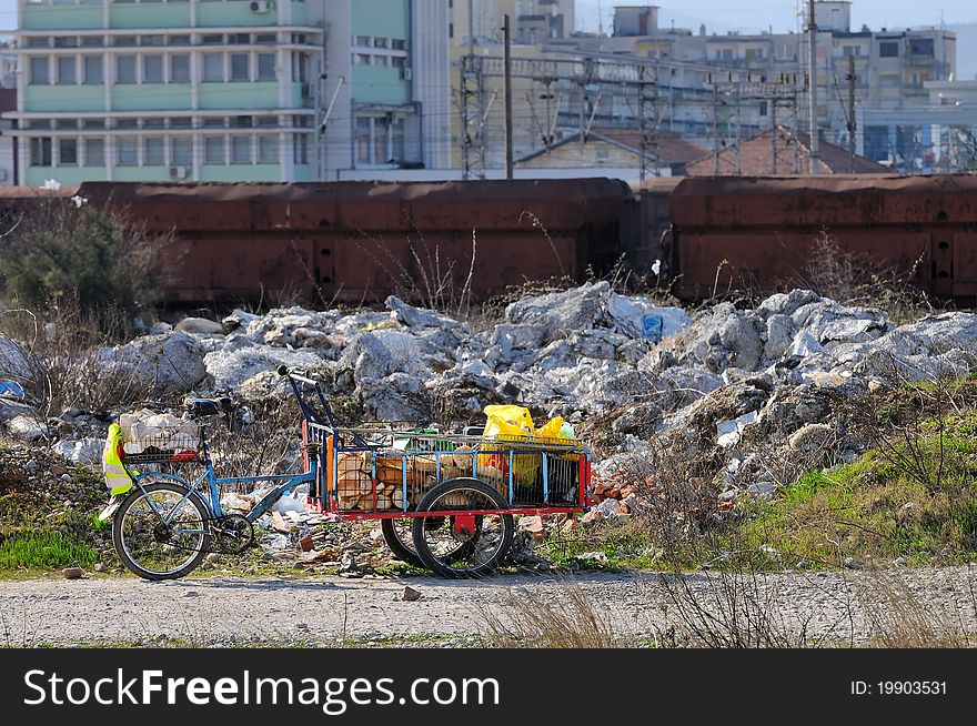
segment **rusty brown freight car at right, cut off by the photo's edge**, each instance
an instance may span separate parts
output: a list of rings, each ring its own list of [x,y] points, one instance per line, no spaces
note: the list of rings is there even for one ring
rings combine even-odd
[[[804,284],[823,236],[938,298],[977,295],[975,175],[689,178],[669,209],[662,252],[682,298]]]

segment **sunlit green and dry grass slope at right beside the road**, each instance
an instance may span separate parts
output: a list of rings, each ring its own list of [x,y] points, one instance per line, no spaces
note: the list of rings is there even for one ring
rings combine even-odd
[[[805,474],[780,496],[754,502],[726,540],[747,551],[773,547],[812,567],[839,566],[846,557],[924,564],[977,558],[975,442],[944,435],[916,447],[917,466],[898,463],[906,448],[873,451],[833,471]],[[896,461],[894,461],[896,460]]]

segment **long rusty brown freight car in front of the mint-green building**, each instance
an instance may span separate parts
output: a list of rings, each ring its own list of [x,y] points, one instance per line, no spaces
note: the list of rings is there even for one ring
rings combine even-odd
[[[171,303],[484,298],[508,284],[601,271],[622,253],[627,185],[611,179],[445,183],[112,183],[91,203],[172,232]]]

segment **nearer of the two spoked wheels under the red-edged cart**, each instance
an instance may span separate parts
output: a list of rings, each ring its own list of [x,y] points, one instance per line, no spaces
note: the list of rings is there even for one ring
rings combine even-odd
[[[424,495],[417,512],[451,512],[447,517],[416,517],[412,534],[421,562],[443,577],[480,577],[495,569],[512,546],[511,514],[467,514],[505,510],[494,488],[474,478],[445,482]],[[440,522],[437,522],[440,520]],[[432,524],[436,523],[436,526]]]

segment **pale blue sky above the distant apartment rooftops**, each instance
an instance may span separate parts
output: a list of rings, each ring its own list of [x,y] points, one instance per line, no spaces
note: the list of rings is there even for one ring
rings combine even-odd
[[[4,2],[8,0],[3,0]],[[598,29],[598,9],[603,11],[604,30],[610,32],[615,4],[645,4],[639,0],[576,0],[577,27]],[[759,32],[773,27],[774,32],[797,30],[797,0],[657,0],[658,26],[667,28],[672,20],[678,28],[698,31],[701,23],[708,32],[729,30]],[[805,2],[806,4],[806,2]],[[872,30],[915,28],[977,21],[974,0],[853,0],[852,28],[863,24]]]

